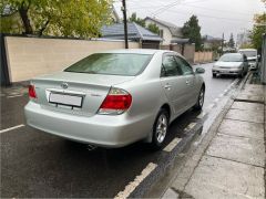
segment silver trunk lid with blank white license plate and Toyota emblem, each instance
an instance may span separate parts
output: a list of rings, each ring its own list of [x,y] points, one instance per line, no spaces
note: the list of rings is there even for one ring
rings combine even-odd
[[[57,112],[92,116],[110,88],[134,76],[60,72],[32,80],[38,104]]]

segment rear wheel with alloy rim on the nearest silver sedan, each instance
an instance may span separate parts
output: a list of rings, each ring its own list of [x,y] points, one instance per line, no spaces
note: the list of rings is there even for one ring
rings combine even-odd
[[[153,125],[153,138],[151,147],[154,150],[158,150],[164,145],[166,134],[168,132],[168,112],[164,108],[160,109],[156,119]]]

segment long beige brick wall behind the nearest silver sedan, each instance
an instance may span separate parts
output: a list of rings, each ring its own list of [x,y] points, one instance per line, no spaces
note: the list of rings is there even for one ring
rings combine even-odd
[[[124,49],[123,41],[6,36],[4,43],[11,82],[61,71],[94,52]],[[130,42],[130,48],[139,49],[140,44]]]

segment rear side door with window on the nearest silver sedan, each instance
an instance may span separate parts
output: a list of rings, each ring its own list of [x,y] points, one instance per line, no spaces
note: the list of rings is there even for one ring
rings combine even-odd
[[[185,109],[184,104],[186,103],[186,83],[174,54],[165,53],[163,55],[161,85],[174,109],[174,115],[183,113]]]

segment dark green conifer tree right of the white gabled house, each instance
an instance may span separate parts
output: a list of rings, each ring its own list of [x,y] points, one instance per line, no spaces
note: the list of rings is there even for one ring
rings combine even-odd
[[[202,46],[202,35],[201,27],[198,25],[198,19],[196,15],[192,15],[187,22],[185,22],[182,28],[182,33],[184,38],[188,38],[191,43],[195,43],[196,51],[201,51]]]

